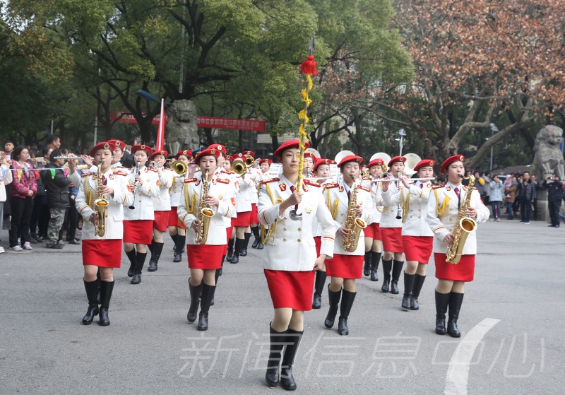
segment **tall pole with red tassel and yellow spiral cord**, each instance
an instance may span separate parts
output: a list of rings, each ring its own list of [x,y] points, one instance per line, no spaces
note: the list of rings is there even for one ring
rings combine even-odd
[[[300,158],[298,161],[298,182],[297,190],[302,187],[302,172],[304,170],[304,150],[306,149],[306,143],[308,141],[307,126],[310,122],[308,117],[308,107],[310,106],[312,100],[309,98],[310,90],[314,83],[312,82],[312,76],[317,76],[316,72],[316,61],[314,60],[314,36],[310,39],[310,45],[308,46],[309,55],[305,61],[300,65],[300,73],[306,76],[306,88],[302,89],[302,101],[304,102],[304,108],[298,113],[298,119],[302,122],[298,129],[298,139],[300,141]],[[302,217],[302,213],[297,213],[298,206],[295,206],[294,210],[290,211],[290,218],[294,220],[299,220]]]

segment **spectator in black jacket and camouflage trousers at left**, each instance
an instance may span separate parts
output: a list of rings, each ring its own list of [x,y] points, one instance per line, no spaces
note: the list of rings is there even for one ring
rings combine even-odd
[[[47,204],[49,205],[49,228],[47,229],[47,241],[45,247],[61,249],[64,244],[59,244],[59,231],[63,226],[65,212],[71,206],[69,203],[69,185],[71,180],[66,177],[61,167],[65,164],[64,159],[55,159],[62,156],[61,150],[54,150],[49,155],[49,163],[46,170],[42,170],[41,179],[47,189]],[[69,161],[69,169],[74,172],[74,160]]]

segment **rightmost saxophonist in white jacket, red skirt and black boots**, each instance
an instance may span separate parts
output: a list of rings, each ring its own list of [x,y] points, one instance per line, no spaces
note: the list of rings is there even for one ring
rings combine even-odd
[[[477,254],[477,235],[472,229],[463,245],[462,256],[458,264],[446,261],[448,246],[460,240],[453,234],[458,222],[460,209],[465,216],[484,223],[489,219],[489,209],[484,206],[476,189],[461,184],[465,167],[463,155],[453,155],[441,165],[441,172],[447,175],[444,186],[434,187],[427,205],[427,222],[434,232],[434,261],[436,263],[436,334],[447,333],[460,337],[457,327],[459,311],[463,303],[465,283],[472,281],[475,275],[475,254]],[[468,196],[470,194],[470,196]],[[468,206],[467,199],[470,199]],[[459,246],[461,247],[461,246]],[[449,319],[446,329],[446,312],[449,307]]]

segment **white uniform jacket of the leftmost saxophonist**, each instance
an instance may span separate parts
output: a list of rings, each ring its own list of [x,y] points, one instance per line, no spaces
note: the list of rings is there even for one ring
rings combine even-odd
[[[76,209],[83,216],[83,240],[107,240],[124,238],[124,206],[133,203],[133,194],[129,189],[128,175],[121,170],[112,167],[102,175],[105,178],[106,186],[114,189],[113,196],[105,196],[109,201],[106,210],[106,232],[100,237],[95,235],[95,227],[90,222],[93,210],[96,188],[97,174],[84,172],[82,179],[78,181],[78,195],[76,196]],[[73,173],[71,179],[76,179],[78,174]],[[73,181],[74,182],[74,181]],[[127,208],[126,208],[127,210]]]

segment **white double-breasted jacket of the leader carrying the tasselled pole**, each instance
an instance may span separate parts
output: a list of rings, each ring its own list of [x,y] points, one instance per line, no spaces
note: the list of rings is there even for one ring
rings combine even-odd
[[[321,254],[333,257],[333,244],[338,225],[331,218],[321,194],[320,184],[304,180],[302,184],[302,202],[298,212],[302,219],[291,220],[289,213],[295,207],[289,207],[279,216],[280,204],[288,199],[292,192],[292,183],[284,176],[261,182],[259,190],[259,222],[269,228],[269,237],[263,249],[263,267],[269,270],[311,271],[316,261],[316,243],[312,224],[314,218],[321,224]]]

